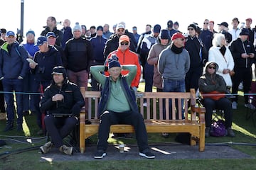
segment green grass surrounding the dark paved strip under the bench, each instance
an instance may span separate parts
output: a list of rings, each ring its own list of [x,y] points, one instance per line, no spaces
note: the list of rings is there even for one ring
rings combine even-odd
[[[142,86],[139,91],[143,91]],[[247,108],[243,106],[243,98],[239,96],[238,110],[233,112],[233,129],[235,137],[208,137],[206,145],[225,144],[234,149],[256,157],[256,127],[252,123],[252,118],[246,120]],[[256,115],[256,114],[255,114]],[[3,130],[5,121],[0,121],[0,130]],[[38,162],[41,153],[38,149],[27,152],[10,154],[9,157],[1,157],[5,152],[13,152],[18,149],[36,147],[46,142],[45,138],[36,135],[38,127],[36,125],[36,115],[24,118],[23,128],[25,132],[1,132],[0,138],[12,138],[16,140],[31,139],[31,143],[21,143],[14,140],[6,140],[10,148],[0,148],[0,169],[253,169],[256,167],[255,159],[172,159],[172,160],[129,160],[129,161],[92,161],[92,162]],[[5,136],[6,135],[6,136]],[[20,136],[20,137],[16,137]],[[174,136],[168,139],[159,137],[159,134],[149,134],[150,143],[174,142]],[[37,138],[38,137],[38,138]],[[28,140],[29,141],[29,140]],[[92,137],[92,142],[96,143],[97,137]],[[110,141],[114,144],[115,140]],[[135,140],[127,140],[125,143],[135,143]]]

